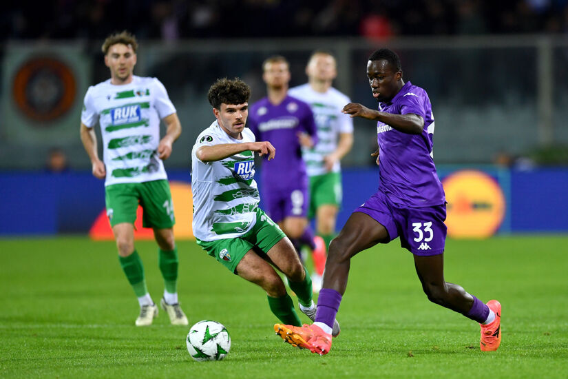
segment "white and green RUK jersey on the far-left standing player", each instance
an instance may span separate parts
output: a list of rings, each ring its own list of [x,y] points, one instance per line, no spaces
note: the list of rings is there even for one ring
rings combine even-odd
[[[105,185],[167,179],[157,150],[160,120],[173,113],[176,108],[156,78],[134,76],[125,85],[108,79],[87,90],[81,122],[101,127]]]

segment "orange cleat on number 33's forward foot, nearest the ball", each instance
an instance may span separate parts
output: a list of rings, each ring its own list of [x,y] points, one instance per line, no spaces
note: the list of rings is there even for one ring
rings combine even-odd
[[[308,349],[320,356],[328,354],[331,349],[331,334],[327,334],[317,325],[294,327],[292,325],[276,324],[274,331],[282,339],[294,347]]]

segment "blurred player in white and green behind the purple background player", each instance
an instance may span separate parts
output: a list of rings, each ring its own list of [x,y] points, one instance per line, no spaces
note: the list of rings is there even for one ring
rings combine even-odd
[[[343,197],[339,161],[353,145],[353,120],[341,113],[349,98],[331,86],[337,76],[332,54],[314,52],[306,74],[308,83],[291,88],[288,94],[308,103],[315,116],[317,143],[304,152],[310,178],[308,217],[315,216],[316,232],[328,248],[335,234],[337,212]],[[319,272],[319,276],[313,276],[314,287],[321,287],[321,275]]]

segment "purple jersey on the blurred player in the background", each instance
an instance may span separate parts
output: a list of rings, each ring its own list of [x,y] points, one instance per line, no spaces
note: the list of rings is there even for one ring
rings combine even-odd
[[[288,187],[288,184],[307,183],[306,164],[297,134],[309,134],[317,142],[315,121],[310,106],[291,96],[278,105],[268,98],[251,105],[248,125],[257,141],[269,141],[276,148],[270,162],[264,156],[261,171],[263,186]]]

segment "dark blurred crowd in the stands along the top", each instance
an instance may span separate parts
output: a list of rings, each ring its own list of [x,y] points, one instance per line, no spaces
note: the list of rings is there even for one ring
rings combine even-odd
[[[0,6],[0,38],[391,37],[568,32],[568,0],[53,0]]]

